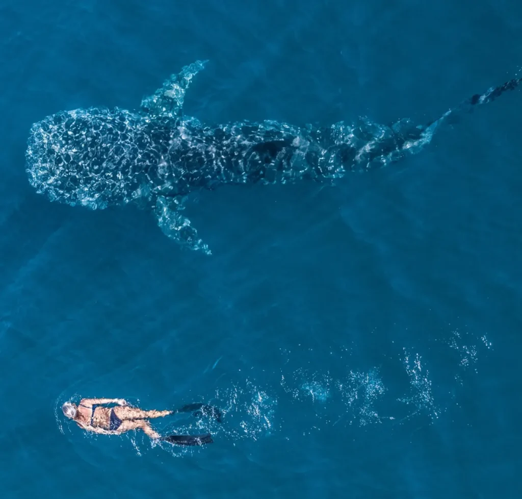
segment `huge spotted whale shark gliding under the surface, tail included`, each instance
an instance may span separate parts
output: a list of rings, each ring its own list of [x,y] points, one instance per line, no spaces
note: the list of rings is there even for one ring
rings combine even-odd
[[[424,125],[400,119],[379,125],[295,126],[272,120],[205,124],[183,113],[185,93],[208,61],[171,75],[139,109],[60,111],[31,127],[26,171],[51,201],[91,210],[136,203],[180,245],[210,254],[184,215],[188,195],[225,184],[313,180],[383,167],[430,143],[450,115],[516,88],[522,78],[476,94]]]

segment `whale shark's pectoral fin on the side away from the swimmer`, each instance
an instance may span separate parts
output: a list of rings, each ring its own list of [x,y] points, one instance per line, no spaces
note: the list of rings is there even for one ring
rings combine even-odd
[[[185,92],[192,78],[208,61],[196,61],[165,80],[163,86],[141,101],[141,111],[152,115],[179,116],[182,113]]]

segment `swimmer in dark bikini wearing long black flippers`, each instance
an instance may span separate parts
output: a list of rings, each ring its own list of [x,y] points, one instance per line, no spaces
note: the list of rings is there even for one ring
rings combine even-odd
[[[104,407],[106,404],[117,405],[115,407]],[[181,412],[193,412],[194,415],[213,417],[221,422],[221,411],[219,409],[201,403],[188,404],[173,411],[144,411],[132,407],[124,399],[81,399],[78,405],[65,402],[62,405],[62,411],[80,428],[89,432],[102,435],[120,435],[130,430],[142,430],[152,440],[162,440],[175,445],[204,445],[211,444],[213,440],[210,433],[161,436],[153,430],[148,420]]]

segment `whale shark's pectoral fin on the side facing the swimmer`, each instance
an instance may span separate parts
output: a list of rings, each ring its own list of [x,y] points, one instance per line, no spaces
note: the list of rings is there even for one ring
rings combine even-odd
[[[154,213],[163,234],[191,250],[211,254],[208,246],[198,238],[197,230],[192,226],[191,221],[181,214],[182,210],[182,198],[176,197],[171,201],[163,196],[158,198]]]

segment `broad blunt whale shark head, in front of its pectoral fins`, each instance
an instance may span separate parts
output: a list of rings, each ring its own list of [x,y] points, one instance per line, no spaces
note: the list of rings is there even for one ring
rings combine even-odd
[[[51,201],[91,209],[132,199],[133,121],[124,110],[63,111],[34,123],[26,151],[29,182]]]

